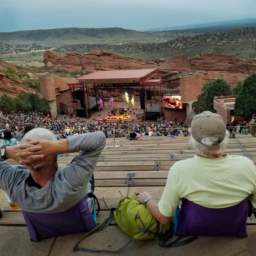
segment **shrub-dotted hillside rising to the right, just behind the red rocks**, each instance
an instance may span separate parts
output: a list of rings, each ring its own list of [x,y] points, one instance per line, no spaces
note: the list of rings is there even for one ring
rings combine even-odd
[[[90,52],[107,49],[133,58],[160,59],[177,53],[191,57],[199,53],[231,54],[247,59],[256,58],[256,28],[234,29],[225,32],[205,33],[195,36],[177,36],[162,43],[130,44],[74,44],[55,49],[59,53]]]

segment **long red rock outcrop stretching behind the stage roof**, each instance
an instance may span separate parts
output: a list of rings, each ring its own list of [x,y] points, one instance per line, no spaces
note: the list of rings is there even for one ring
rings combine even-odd
[[[44,63],[51,68],[60,68],[70,72],[82,70],[82,66],[89,72],[159,68],[159,78],[162,78],[163,86],[169,89],[180,86],[180,74],[184,73],[200,72],[204,82],[224,78],[231,85],[235,85],[238,81],[256,72],[255,60],[217,53],[198,54],[192,59],[188,54],[176,54],[163,58],[157,63],[156,60],[135,60],[107,50],[93,50],[84,54],[67,53],[64,57],[57,52],[47,50],[44,53]]]

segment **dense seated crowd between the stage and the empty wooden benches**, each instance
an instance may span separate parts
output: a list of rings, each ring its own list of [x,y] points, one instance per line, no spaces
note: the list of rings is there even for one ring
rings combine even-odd
[[[0,137],[2,139],[7,138],[7,140],[12,138],[16,139],[17,141],[20,141],[28,131],[34,128],[48,129],[55,134],[57,139],[97,131],[104,132],[106,138],[113,138],[115,136],[130,139],[130,134],[136,133],[138,139],[143,136],[171,137],[179,134],[184,134],[184,136],[187,136],[188,127],[189,125],[177,120],[174,120],[173,122],[163,121],[141,124],[124,121],[111,123],[106,119],[99,122],[98,120],[82,118],[69,120],[66,118],[60,119],[58,116],[55,116],[55,118],[50,118],[49,116],[39,115],[36,112],[13,113],[9,115],[3,115],[3,113],[0,112]],[[6,133],[5,137],[4,133]],[[9,133],[11,133],[11,138]],[[131,136],[133,137],[133,134]],[[13,140],[12,143],[15,143],[15,140]]]

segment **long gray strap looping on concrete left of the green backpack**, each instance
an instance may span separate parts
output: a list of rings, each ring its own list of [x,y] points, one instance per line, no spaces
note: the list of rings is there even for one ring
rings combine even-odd
[[[116,208],[111,208],[108,216],[105,220],[103,220],[96,228],[92,229],[90,232],[86,233],[84,236],[82,236],[79,241],[76,243],[74,246],[74,252],[81,251],[81,252],[120,252],[122,251],[125,247],[127,247],[129,244],[132,243],[134,240],[134,237],[131,237],[129,241],[120,249],[117,249],[116,251],[109,251],[109,250],[94,250],[94,249],[89,249],[89,248],[84,248],[84,247],[79,247],[78,244],[80,244],[86,237],[104,230],[105,228],[108,227],[108,225],[111,223],[111,221],[114,219],[114,211]]]

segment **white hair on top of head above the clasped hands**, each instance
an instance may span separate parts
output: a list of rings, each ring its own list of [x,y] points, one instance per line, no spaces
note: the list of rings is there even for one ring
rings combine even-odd
[[[22,138],[22,140],[20,141],[20,144],[28,143],[26,141],[27,139],[57,141],[55,135],[51,131],[45,128],[35,128],[27,132]]]

